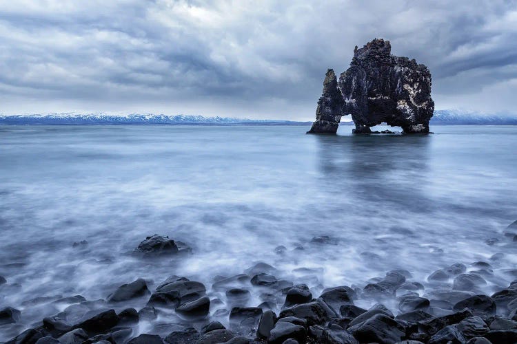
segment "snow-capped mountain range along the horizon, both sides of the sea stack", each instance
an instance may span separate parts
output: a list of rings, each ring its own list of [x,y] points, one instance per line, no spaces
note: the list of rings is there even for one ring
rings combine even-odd
[[[345,119],[345,118],[343,118]],[[349,117],[347,117],[349,119]],[[248,118],[200,115],[130,114],[29,114],[0,115],[0,125],[311,125],[294,120],[251,120]],[[436,110],[430,125],[517,125],[517,116],[479,114],[460,110]],[[341,121],[341,125],[354,122]]]

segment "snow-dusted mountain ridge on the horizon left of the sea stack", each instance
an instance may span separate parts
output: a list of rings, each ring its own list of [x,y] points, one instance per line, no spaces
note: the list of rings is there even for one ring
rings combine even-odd
[[[307,125],[292,120],[250,120],[247,118],[200,115],[130,114],[31,114],[0,115],[0,125]]]

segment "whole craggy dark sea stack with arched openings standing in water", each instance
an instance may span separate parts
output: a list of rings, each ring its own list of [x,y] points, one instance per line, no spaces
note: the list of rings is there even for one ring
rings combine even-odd
[[[404,133],[428,133],[433,116],[431,73],[425,65],[391,54],[389,41],[374,39],[361,49],[334,83],[329,69],[310,133],[336,133],[341,116],[352,115],[354,133],[371,133],[386,122]],[[341,95],[341,99],[339,96]]]

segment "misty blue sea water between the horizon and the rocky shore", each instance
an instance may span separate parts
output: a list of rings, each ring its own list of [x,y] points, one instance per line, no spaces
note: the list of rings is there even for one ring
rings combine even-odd
[[[503,269],[517,263],[515,246],[485,239],[517,219],[517,127],[433,127],[429,136],[306,130],[0,127],[0,275],[8,280],[0,306],[22,311],[23,330],[59,310],[27,303],[36,297],[105,299],[137,277],[152,285],[170,275],[210,290],[214,276],[257,261],[321,290],[364,286],[394,268],[424,280],[504,252],[486,291],[511,280]],[[154,233],[190,244],[193,255],[129,255]],[[310,244],[318,235],[337,244]],[[81,240],[88,246],[72,247]],[[287,255],[275,253],[279,245]]]

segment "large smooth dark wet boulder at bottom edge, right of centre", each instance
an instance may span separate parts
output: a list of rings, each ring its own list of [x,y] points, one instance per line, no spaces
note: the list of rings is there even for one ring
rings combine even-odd
[[[361,343],[396,343],[405,336],[405,328],[385,314],[376,314],[356,327],[352,334]]]

